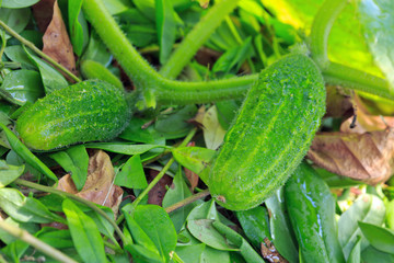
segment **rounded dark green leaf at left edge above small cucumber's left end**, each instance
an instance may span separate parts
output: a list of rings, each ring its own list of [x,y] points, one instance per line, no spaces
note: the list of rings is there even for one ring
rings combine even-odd
[[[1,96],[16,105],[34,103],[44,95],[39,73],[33,70],[15,70],[8,73],[1,84]]]

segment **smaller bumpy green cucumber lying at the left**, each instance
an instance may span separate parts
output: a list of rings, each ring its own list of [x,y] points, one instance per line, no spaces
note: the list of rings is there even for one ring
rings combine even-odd
[[[36,101],[19,117],[16,132],[28,148],[50,150],[112,139],[129,117],[123,91],[101,80],[88,80]]]

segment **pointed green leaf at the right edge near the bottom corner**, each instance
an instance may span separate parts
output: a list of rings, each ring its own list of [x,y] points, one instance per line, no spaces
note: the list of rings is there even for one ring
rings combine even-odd
[[[372,224],[359,221],[363,236],[376,250],[394,253],[394,231]]]

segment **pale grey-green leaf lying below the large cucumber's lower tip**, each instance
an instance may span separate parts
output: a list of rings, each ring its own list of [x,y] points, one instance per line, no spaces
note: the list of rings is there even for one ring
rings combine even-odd
[[[212,219],[187,220],[187,229],[193,237],[207,245],[224,251],[239,251],[234,244],[229,244],[227,239],[212,226]]]

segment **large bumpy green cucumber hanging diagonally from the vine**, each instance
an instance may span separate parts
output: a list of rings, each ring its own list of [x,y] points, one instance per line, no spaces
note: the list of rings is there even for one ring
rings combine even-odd
[[[304,55],[286,56],[262,71],[209,174],[221,206],[251,209],[285,184],[320,126],[325,96],[323,77]]]

